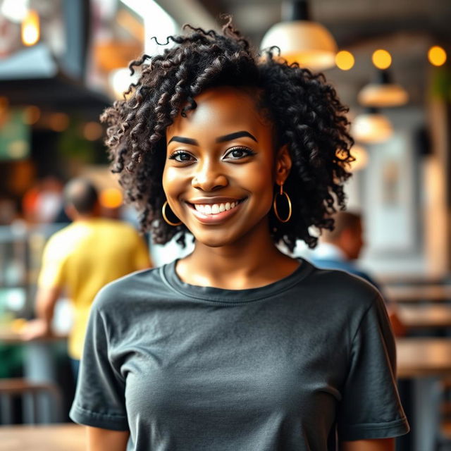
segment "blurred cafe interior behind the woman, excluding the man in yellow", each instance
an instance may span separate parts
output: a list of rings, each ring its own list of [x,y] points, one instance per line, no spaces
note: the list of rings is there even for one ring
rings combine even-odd
[[[347,209],[364,233],[356,264],[403,328],[397,383],[411,430],[396,447],[451,450],[449,0],[0,0],[1,449],[85,449],[68,417],[70,300],[58,300],[51,335],[20,337],[44,246],[68,223],[63,185],[92,180],[103,214],[137,226],[99,115],[136,80],[130,61],[161,53],[185,23],[220,30],[223,13],[256,49],[278,46],[323,72],[349,106]],[[146,239],[155,266],[190,252]],[[299,242],[295,255],[315,251]]]

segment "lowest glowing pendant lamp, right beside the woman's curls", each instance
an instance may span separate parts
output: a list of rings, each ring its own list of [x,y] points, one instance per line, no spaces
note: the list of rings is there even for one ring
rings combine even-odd
[[[393,126],[378,109],[371,107],[354,118],[351,133],[356,141],[372,144],[388,140]]]

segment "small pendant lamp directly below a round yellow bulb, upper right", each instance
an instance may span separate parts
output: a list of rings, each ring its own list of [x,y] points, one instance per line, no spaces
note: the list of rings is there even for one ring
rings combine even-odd
[[[376,80],[360,90],[357,96],[359,104],[379,108],[407,104],[409,94],[401,85],[393,83],[388,70],[378,70],[376,74]]]

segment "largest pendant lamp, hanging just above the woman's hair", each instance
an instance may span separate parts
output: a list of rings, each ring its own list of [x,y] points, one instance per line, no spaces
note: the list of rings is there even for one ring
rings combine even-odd
[[[277,46],[288,63],[296,61],[311,70],[335,66],[335,39],[323,25],[310,20],[307,0],[294,0],[282,6],[283,21],[266,32],[261,49]]]

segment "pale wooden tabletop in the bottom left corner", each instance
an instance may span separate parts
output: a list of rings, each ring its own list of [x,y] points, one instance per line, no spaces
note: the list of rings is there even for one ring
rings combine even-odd
[[[78,424],[0,426],[2,451],[85,451],[85,428]]]

